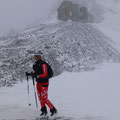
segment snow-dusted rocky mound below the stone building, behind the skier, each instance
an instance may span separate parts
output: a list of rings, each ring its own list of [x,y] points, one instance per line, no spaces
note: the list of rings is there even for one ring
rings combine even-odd
[[[103,61],[120,61],[112,42],[90,24],[59,22],[40,25],[21,33],[1,38],[0,85],[23,80],[32,70],[33,52],[41,50],[54,69],[63,71],[93,70]]]

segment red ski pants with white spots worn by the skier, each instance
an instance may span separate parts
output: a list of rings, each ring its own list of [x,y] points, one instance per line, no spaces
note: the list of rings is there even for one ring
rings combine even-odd
[[[50,109],[53,109],[54,106],[48,99],[48,87],[44,87],[41,83],[37,83],[37,93],[41,108],[45,107],[46,104]]]

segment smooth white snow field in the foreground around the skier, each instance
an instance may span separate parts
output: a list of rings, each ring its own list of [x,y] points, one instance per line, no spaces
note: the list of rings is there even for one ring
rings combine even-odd
[[[69,73],[50,80],[49,98],[58,115],[73,120],[120,119],[120,64],[103,64],[94,72]],[[39,116],[35,107],[32,81],[28,106],[27,82],[0,88],[0,120],[33,120]]]

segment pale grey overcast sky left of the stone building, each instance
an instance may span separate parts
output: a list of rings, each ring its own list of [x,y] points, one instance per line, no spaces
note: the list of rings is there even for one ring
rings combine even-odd
[[[46,20],[60,0],[0,0],[0,36]]]

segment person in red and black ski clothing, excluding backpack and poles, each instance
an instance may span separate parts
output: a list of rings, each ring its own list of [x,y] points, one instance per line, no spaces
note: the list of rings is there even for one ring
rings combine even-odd
[[[34,56],[35,64],[33,65],[33,74],[32,76],[36,78],[37,84],[37,94],[41,104],[41,116],[47,114],[46,105],[50,108],[51,116],[57,113],[57,109],[48,99],[48,86],[49,86],[49,77],[48,77],[48,64],[41,59],[40,54]]]

